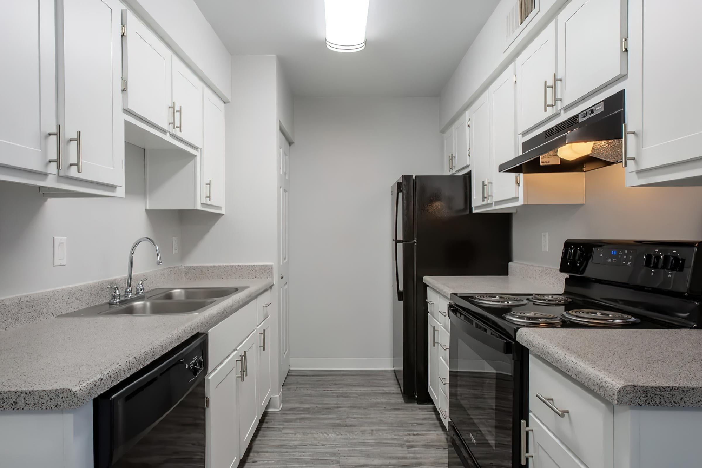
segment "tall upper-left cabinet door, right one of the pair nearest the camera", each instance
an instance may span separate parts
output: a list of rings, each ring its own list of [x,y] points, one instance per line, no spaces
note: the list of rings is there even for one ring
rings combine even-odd
[[[64,0],[58,22],[58,99],[63,128],[60,175],[124,185],[121,4]]]

